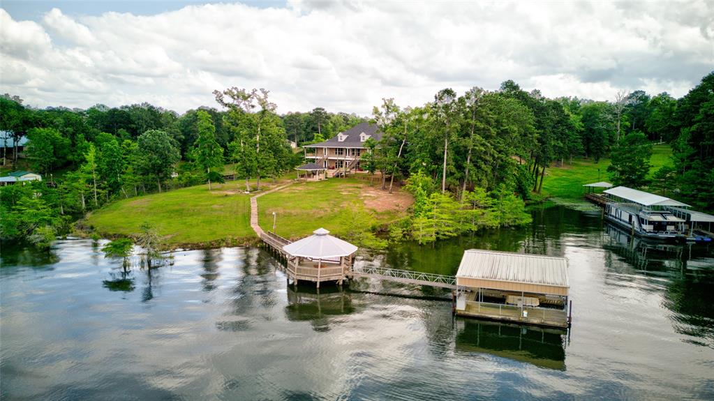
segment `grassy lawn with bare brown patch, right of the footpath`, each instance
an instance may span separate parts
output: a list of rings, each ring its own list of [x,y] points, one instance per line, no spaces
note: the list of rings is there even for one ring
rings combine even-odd
[[[389,195],[377,188],[378,183],[371,187],[357,178],[295,183],[258,198],[258,223],[263,230],[272,230],[275,212],[276,233],[296,239],[320,227],[344,235],[354,224],[376,228],[406,217],[411,196],[404,192]],[[374,203],[391,207],[377,211]]]

